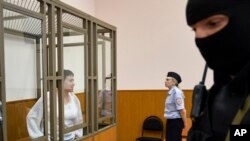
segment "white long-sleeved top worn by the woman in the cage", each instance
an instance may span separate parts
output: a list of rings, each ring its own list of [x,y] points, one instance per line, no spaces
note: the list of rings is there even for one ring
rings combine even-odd
[[[72,127],[74,125],[82,124],[82,112],[81,105],[78,98],[74,93],[70,93],[70,101],[67,104],[64,104],[64,126]],[[49,94],[48,94],[48,108],[49,108]],[[48,109],[50,113],[50,109]],[[48,115],[49,115],[48,113]],[[58,116],[58,107],[57,107],[57,116]],[[27,128],[29,136],[34,139],[44,135],[44,124],[43,124],[43,98],[35,103],[27,115]],[[50,127],[48,116],[48,127]],[[58,120],[57,120],[58,121]],[[59,128],[59,123],[57,122],[57,128]],[[49,133],[50,134],[50,133]],[[71,140],[74,138],[81,137],[83,135],[83,130],[78,129],[76,131],[64,134],[64,140]],[[50,139],[49,139],[50,140]]]

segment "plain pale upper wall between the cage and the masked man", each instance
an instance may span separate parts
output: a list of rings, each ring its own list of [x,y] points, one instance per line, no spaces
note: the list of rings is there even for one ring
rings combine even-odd
[[[205,62],[186,25],[183,0],[96,0],[95,14],[117,27],[118,89],[163,89],[168,71],[192,89]],[[209,71],[207,85],[212,84]]]

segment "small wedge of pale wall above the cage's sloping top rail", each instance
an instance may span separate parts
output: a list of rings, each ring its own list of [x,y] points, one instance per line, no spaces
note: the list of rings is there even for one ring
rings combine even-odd
[[[89,15],[95,15],[95,0],[60,0]]]

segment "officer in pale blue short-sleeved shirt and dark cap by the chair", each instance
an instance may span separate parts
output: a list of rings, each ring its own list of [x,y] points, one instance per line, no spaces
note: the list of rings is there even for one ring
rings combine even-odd
[[[166,140],[181,141],[182,129],[186,126],[186,109],[183,92],[178,88],[181,77],[176,72],[168,72],[165,86],[169,89],[165,101],[164,117],[167,119]]]

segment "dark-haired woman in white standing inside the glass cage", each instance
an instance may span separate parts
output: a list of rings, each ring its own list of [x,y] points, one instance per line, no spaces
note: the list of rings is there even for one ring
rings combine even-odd
[[[82,124],[82,111],[79,99],[74,94],[74,73],[70,70],[64,70],[64,126],[72,127],[74,125]],[[58,97],[57,97],[58,98]],[[49,95],[48,95],[48,107],[49,107]],[[58,107],[57,107],[58,110]],[[48,109],[50,113],[50,109]],[[57,111],[58,113],[58,111]],[[26,120],[29,136],[34,139],[44,136],[44,120],[43,120],[43,97],[39,100],[29,111]],[[49,115],[48,115],[49,117]],[[57,114],[58,117],[58,114]],[[50,121],[50,119],[48,119]],[[49,124],[49,123],[48,123]],[[48,125],[48,127],[50,124]],[[57,128],[58,128],[57,122]],[[83,130],[78,129],[70,133],[64,134],[65,141],[72,141],[83,135]],[[49,139],[50,140],[50,133]]]

